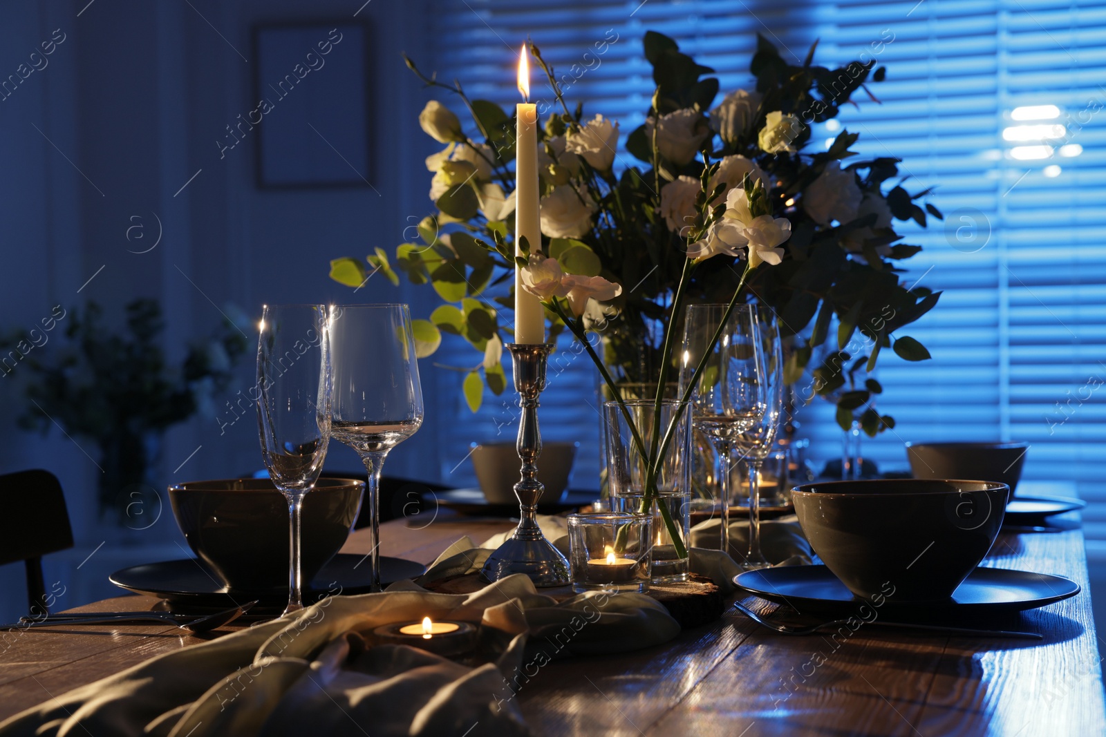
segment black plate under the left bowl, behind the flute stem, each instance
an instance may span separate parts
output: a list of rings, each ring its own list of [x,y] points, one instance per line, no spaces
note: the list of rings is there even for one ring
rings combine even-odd
[[[364,560],[364,562],[362,562]],[[361,565],[358,565],[361,564]],[[414,578],[426,572],[426,566],[403,558],[380,558],[380,580],[384,585]],[[315,580],[303,592],[304,602],[315,602],[337,593],[368,593],[371,588],[368,559],[340,552],[331,558]],[[223,586],[219,578],[196,558],[144,564],[117,570],[108,580],[135,593],[165,599],[170,604],[191,607],[232,607],[236,602],[259,600],[259,606],[280,604],[288,601],[288,589],[269,591],[239,591]]]

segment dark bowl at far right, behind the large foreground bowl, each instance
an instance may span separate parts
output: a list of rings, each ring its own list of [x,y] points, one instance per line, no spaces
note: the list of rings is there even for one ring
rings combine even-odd
[[[1018,489],[1025,443],[907,443],[915,478],[985,478]]]

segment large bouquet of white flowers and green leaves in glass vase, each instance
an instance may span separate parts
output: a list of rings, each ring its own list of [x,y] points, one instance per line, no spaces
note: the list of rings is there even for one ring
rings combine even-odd
[[[473,411],[486,385],[497,394],[505,388],[502,335],[511,330],[501,315],[513,308],[513,295],[497,287],[521,267],[524,287],[545,305],[550,340],[570,330],[619,401],[618,385],[634,382],[655,387],[659,404],[687,303],[732,309],[759,301],[779,315],[781,334],[794,336],[784,372],[789,383],[802,377],[836,317],[837,349],[813,369],[814,390],[836,398],[843,428],[859,422],[875,435],[894,427],[873,406],[879,385],[853,386],[852,377],[860,366],[870,370],[886,347],[906,360],[929,358],[910,337],[893,340],[895,330],[939,297],[899,281],[896,262],[920,246],[900,243],[894,221],[925,225],[927,212],[941,215],[932,204],[917,203],[929,190],[911,194],[902,188],[898,159],[849,162],[856,134],[842,130],[826,150],[804,151],[812,125],[834,118],[858,91],[875,101],[867,83],[886,74],[875,62],[814,65],[816,45],[796,66],[759,38],[750,67],[755,90],[717,102],[713,70],[681,53],[672,39],[647,32],[645,55],[656,88],[645,124],[624,141],[638,160],[632,162],[618,154],[619,124],[601,114],[586,117],[582,104],[570,108],[553,69],[530,44],[552,93],[550,103],[539,104],[540,244],[511,242],[513,117],[407,60],[425,84],[456,95],[473,133],[446,106],[428,103],[419,124],[446,148],[426,160],[437,212],[418,225],[422,242],[399,245],[394,260],[383,249],[364,262],[337,259],[331,275],[358,286],[379,271],[398,284],[398,270],[413,283],[429,283],[445,304],[429,320],[415,322],[418,349],[429,355],[445,331],[482,354],[478,365],[462,369]],[[524,255],[515,257],[515,245]],[[602,337],[602,357],[589,331]],[[719,333],[721,325],[716,340]],[[851,344],[857,333],[859,349]],[[848,390],[841,391],[846,381]],[[648,457],[662,457],[669,439],[649,449]]]

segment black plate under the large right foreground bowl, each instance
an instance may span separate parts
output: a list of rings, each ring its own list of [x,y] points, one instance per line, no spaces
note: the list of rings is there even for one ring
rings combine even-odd
[[[825,566],[787,566],[751,570],[734,577],[738,587],[769,601],[807,610],[851,611],[863,600],[853,596]],[[977,568],[951,599],[929,602],[884,600],[888,611],[909,611],[911,617],[978,614],[1036,609],[1079,592],[1079,585],[1060,576],[1005,568]]]

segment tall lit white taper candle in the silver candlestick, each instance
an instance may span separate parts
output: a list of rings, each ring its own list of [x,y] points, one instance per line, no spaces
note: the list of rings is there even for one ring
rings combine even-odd
[[[519,92],[530,99],[530,64],[526,46],[522,46],[519,57]],[[542,244],[542,229],[539,220],[538,189],[538,106],[519,103],[515,106],[517,144],[514,155],[514,243],[515,253],[521,255],[519,243],[523,236],[531,251]],[[545,310],[533,294],[522,288],[522,273],[514,270],[514,341],[545,343]]]

